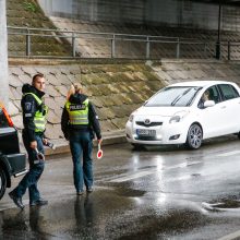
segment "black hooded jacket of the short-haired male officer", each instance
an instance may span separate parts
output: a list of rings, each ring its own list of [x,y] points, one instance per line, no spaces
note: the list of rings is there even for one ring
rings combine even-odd
[[[45,93],[38,91],[34,86],[29,84],[24,84],[22,87],[22,93],[33,93],[37,95],[39,98],[41,98]],[[31,94],[27,94],[22,97],[21,106],[23,110],[23,125],[24,131],[29,140],[29,142],[36,141],[36,133],[35,133],[35,124],[34,124],[34,117],[36,111],[40,110],[43,108],[41,105],[38,105],[38,103],[35,100],[34,96]]]

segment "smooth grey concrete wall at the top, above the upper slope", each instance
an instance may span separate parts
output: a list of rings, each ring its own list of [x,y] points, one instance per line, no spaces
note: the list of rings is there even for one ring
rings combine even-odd
[[[179,0],[38,0],[49,16],[217,29],[218,5]],[[239,31],[238,8],[223,7],[223,29]]]

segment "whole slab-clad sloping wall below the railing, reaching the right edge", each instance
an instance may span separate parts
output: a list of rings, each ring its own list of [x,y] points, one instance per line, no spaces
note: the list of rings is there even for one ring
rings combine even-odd
[[[239,62],[206,60],[161,60],[159,62],[51,62],[10,61],[10,113],[23,128],[21,88],[41,72],[47,79],[45,103],[49,106],[46,135],[68,149],[60,128],[65,95],[72,83],[80,82],[100,118],[103,135],[122,142],[130,113],[165,85],[190,80],[227,80],[240,85]],[[112,141],[107,141],[112,143]],[[116,142],[116,141],[115,141]]]

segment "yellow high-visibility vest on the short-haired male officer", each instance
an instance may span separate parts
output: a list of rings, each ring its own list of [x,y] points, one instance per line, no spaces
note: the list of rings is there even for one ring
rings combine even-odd
[[[43,103],[43,100],[33,93],[26,93],[24,96],[31,94],[38,105],[43,105],[41,111],[37,110],[34,116],[34,124],[35,124],[35,132],[44,132],[46,129],[47,123],[47,113],[48,113],[48,107]]]

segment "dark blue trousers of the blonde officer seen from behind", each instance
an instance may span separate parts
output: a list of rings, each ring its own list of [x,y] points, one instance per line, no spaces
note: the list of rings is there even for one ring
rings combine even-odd
[[[91,133],[83,130],[70,131],[70,149],[73,161],[73,180],[77,192],[83,191],[83,182],[86,189],[93,185],[93,142]]]

